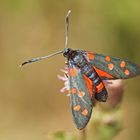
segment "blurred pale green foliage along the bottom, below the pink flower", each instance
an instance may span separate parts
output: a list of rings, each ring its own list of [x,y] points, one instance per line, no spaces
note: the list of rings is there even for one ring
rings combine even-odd
[[[121,109],[112,108],[104,111],[101,106],[94,109],[90,127],[80,131],[80,136],[75,136],[65,131],[48,134],[48,140],[112,140],[122,130]]]

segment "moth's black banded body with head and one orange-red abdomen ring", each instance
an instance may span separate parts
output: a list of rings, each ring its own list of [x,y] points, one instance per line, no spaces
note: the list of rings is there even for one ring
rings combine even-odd
[[[107,100],[107,91],[104,86],[104,83],[102,82],[96,70],[83,55],[82,51],[72,50],[71,48],[68,48],[64,50],[63,55],[67,58],[68,64],[71,63],[71,65],[75,65],[81,70],[82,74],[87,76],[92,81],[92,90],[95,95],[95,98],[98,101],[105,102]],[[99,85],[102,86],[98,87]]]

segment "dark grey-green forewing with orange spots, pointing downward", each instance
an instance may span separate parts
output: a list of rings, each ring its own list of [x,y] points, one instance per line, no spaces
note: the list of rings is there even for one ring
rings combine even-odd
[[[86,82],[79,68],[68,62],[70,80],[70,105],[73,120],[78,129],[83,129],[92,113],[93,100],[86,86]]]

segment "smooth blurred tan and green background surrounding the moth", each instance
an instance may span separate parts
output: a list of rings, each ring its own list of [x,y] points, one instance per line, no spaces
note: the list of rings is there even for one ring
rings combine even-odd
[[[59,92],[63,56],[19,64],[64,48],[69,9],[71,48],[140,64],[139,7],[139,0],[0,0],[0,139],[46,140],[58,130],[78,134],[69,99]],[[140,139],[139,82],[140,77],[125,82],[124,129],[115,140]]]

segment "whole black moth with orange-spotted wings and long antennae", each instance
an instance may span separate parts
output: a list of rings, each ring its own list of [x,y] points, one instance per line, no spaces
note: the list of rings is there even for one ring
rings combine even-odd
[[[83,129],[92,113],[94,99],[105,102],[108,94],[102,80],[128,79],[140,74],[140,67],[129,60],[68,48],[69,15],[66,16],[66,47],[63,51],[34,58],[21,66],[63,53],[67,58],[70,103],[73,120]]]

